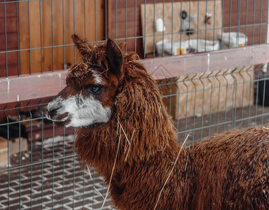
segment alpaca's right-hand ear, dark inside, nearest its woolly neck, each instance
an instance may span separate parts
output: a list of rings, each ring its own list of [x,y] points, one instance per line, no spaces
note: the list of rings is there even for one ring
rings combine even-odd
[[[122,50],[112,39],[107,39],[107,48],[106,48],[106,59],[108,62],[108,67],[110,71],[117,76],[118,80],[122,80],[124,77],[124,56],[122,55]]]

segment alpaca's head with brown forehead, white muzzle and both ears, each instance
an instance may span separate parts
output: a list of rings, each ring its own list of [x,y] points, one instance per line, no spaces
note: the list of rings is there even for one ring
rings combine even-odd
[[[72,39],[83,58],[67,73],[67,86],[49,102],[47,118],[67,127],[106,123],[124,78],[122,50],[112,39],[96,45],[75,34]]]

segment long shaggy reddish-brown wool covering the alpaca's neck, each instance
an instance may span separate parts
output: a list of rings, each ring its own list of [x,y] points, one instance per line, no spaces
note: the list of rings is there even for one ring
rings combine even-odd
[[[176,130],[157,83],[143,66],[136,65],[136,70],[126,67],[110,120],[97,127],[81,127],[77,132],[75,146],[80,158],[108,171],[112,170],[118,144],[118,169],[150,160],[160,152],[178,151]]]

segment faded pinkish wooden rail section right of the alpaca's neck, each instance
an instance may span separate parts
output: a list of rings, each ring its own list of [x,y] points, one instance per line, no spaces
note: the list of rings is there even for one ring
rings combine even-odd
[[[196,55],[145,59],[147,71],[155,79],[171,78],[218,69],[269,62],[269,45],[219,50]]]

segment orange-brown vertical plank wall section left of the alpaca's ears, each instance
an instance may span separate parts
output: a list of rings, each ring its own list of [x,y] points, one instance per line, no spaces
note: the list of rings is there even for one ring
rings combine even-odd
[[[103,40],[104,7],[103,0],[18,3],[20,49],[36,48],[20,51],[20,73],[53,71],[74,64],[79,56],[71,35],[75,32],[88,41]]]

